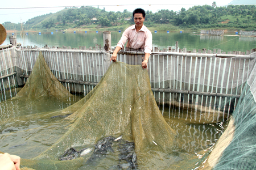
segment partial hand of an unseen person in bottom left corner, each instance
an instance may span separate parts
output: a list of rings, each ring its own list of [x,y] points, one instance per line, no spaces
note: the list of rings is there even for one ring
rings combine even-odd
[[[0,154],[0,169],[19,170],[20,157],[10,154]]]

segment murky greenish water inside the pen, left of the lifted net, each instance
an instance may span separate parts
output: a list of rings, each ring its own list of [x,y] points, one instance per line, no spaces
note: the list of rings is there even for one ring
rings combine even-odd
[[[14,91],[14,90],[13,90]],[[15,92],[14,92],[15,93]],[[69,121],[51,118],[79,101],[41,98],[39,101],[9,99],[0,103],[0,147],[2,152],[30,159],[53,145],[67,130]]]

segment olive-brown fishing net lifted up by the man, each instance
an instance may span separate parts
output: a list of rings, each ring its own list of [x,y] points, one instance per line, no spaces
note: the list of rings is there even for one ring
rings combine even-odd
[[[167,153],[175,143],[176,133],[160,114],[147,70],[140,65],[115,62],[90,93],[77,103],[81,104],[75,107],[79,109],[67,117],[75,119],[67,133],[35,160],[57,161],[70,147],[94,147],[102,138],[122,135],[123,140],[134,142],[139,167],[170,165],[166,160],[173,157]],[[155,159],[159,152],[166,153],[164,159]],[[102,159],[97,166],[108,161],[108,158]]]

